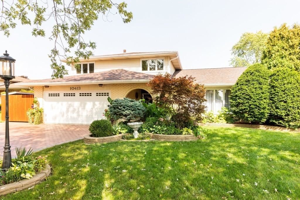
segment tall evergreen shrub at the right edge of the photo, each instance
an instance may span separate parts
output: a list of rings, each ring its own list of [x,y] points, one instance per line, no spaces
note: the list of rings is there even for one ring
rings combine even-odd
[[[270,122],[300,127],[300,74],[287,67],[279,67],[270,76]]]

